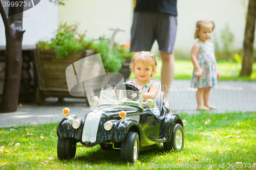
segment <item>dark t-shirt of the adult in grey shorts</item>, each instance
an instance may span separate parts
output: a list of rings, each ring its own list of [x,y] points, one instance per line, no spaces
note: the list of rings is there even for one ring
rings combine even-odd
[[[177,16],[177,0],[137,0],[134,12],[162,12]]]

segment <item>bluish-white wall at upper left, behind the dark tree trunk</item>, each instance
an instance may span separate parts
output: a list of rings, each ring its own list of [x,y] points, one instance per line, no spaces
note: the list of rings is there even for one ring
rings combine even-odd
[[[41,0],[35,7],[23,13],[23,45],[35,45],[39,39],[53,37],[58,28],[58,5]],[[0,45],[6,45],[5,27],[0,19]]]

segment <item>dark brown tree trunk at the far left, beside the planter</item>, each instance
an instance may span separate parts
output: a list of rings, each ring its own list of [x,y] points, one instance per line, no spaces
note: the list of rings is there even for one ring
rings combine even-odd
[[[12,1],[15,2],[15,0],[10,2]],[[20,2],[23,1],[20,0]],[[18,106],[20,72],[22,68],[22,39],[25,32],[22,31],[23,6],[10,6],[9,17],[7,18],[3,5],[0,3],[0,12],[6,34],[5,81],[0,112],[15,112]]]

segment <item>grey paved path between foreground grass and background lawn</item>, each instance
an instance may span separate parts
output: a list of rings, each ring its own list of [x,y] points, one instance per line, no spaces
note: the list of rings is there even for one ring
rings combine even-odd
[[[159,80],[156,80],[160,82]],[[189,88],[189,80],[174,80],[169,93],[169,102],[172,111],[195,114],[197,108],[197,89]],[[0,128],[13,125],[44,124],[59,122],[63,117],[62,109],[70,108],[71,114],[83,117],[90,110],[82,99],[64,99],[59,103],[55,98],[48,98],[44,106],[38,106],[35,102],[18,107],[17,112],[1,113]],[[209,112],[223,113],[243,111],[256,111],[256,82],[219,81],[217,88],[212,88],[210,104],[218,107],[218,110]]]

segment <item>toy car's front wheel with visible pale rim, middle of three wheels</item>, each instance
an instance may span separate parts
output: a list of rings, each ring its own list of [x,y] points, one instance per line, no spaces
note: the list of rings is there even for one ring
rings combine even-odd
[[[121,160],[136,163],[139,156],[139,135],[129,132],[121,143]]]

